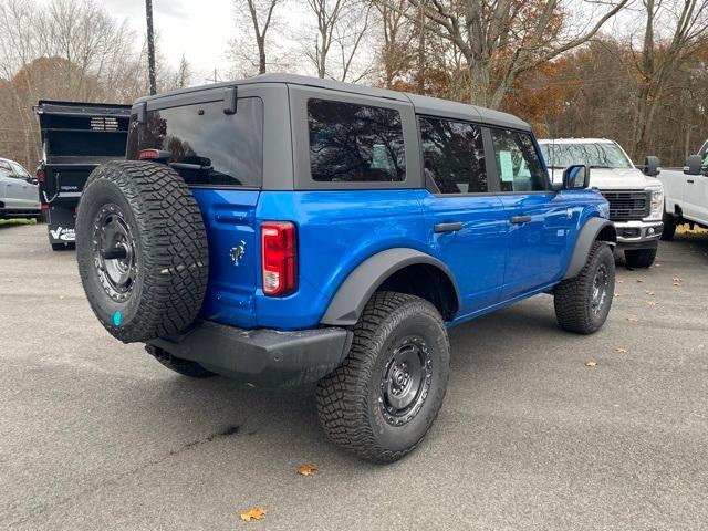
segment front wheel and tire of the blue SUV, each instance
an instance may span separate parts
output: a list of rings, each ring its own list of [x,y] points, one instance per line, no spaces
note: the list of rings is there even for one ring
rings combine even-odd
[[[555,319],[563,330],[592,334],[602,327],[615,293],[615,260],[612,250],[596,241],[585,267],[574,279],[555,287]]]

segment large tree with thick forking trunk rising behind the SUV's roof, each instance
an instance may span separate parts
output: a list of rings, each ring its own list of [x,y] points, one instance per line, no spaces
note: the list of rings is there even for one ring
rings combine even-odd
[[[590,28],[587,21],[564,28],[560,0],[410,0],[425,13],[428,30],[462,53],[471,103],[493,108],[520,74],[587,42],[627,2],[586,0],[586,6],[608,8]]]

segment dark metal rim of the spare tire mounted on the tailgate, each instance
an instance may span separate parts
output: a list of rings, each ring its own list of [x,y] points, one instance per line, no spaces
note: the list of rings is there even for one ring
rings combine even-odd
[[[137,278],[135,239],[121,207],[104,205],[93,223],[94,264],[106,294],[116,302],[131,295]]]

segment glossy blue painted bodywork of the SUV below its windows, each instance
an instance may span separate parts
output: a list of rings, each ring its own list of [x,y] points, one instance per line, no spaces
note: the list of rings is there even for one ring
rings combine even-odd
[[[426,189],[192,191],[209,240],[201,317],[243,329],[319,326],[352,271],[392,248],[418,250],[449,268],[461,299],[449,324],[459,324],[551,289],[563,278],[586,219],[607,216],[595,190],[461,196]],[[520,212],[531,221],[512,225],[511,217]],[[285,298],[266,296],[261,289],[258,235],[268,220],[296,226],[299,287]],[[452,220],[461,221],[462,229],[434,231],[435,225]]]

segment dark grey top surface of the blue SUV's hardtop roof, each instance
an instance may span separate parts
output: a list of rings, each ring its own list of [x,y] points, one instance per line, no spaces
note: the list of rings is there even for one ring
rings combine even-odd
[[[465,119],[471,122],[479,122],[483,124],[498,125],[502,127],[510,127],[514,129],[531,131],[531,126],[518,118],[517,116],[500,111],[493,111],[490,108],[478,107],[476,105],[467,105],[464,103],[451,102],[448,100],[441,100],[438,97],[420,96],[417,94],[409,94],[406,92],[389,91],[387,88],[378,88],[366,85],[356,85],[353,83],[343,83],[334,80],[322,80],[320,77],[310,77],[306,75],[296,74],[281,74],[281,73],[268,73],[260,74],[253,77],[248,77],[240,81],[229,81],[225,83],[215,83],[210,85],[200,85],[189,88],[181,88],[178,91],[165,92],[154,96],[144,96],[135,102],[134,105],[168,98],[170,96],[179,96],[189,93],[196,93],[200,91],[214,91],[218,88],[228,88],[230,86],[239,85],[253,85],[259,83],[284,83],[290,85],[314,86],[319,88],[329,88],[332,91],[347,92],[351,94],[362,94],[373,97],[383,97],[387,100],[395,100],[398,102],[412,103],[418,114],[426,114],[431,116],[444,116],[457,119]]]

